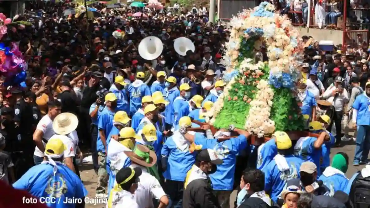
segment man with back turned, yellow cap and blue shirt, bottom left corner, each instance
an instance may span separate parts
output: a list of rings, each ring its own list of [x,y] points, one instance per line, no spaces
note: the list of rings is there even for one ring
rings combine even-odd
[[[84,202],[87,191],[80,178],[63,165],[65,148],[60,139],[48,141],[44,161],[28,170],[13,187],[28,191],[39,200],[43,200],[40,202],[46,203],[48,207],[84,207],[84,203],[75,204],[67,201],[74,198]]]

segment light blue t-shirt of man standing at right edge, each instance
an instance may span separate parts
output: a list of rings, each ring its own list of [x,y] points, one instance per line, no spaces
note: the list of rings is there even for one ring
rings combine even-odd
[[[370,98],[365,94],[354,100],[352,107],[357,110],[357,125],[370,125]]]

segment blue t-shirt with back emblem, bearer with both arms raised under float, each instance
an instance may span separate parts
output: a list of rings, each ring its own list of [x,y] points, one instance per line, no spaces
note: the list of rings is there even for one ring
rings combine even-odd
[[[218,142],[217,140],[207,139],[202,134],[195,134],[194,142],[196,145],[202,145],[202,149],[214,150],[218,157],[223,160],[221,165],[217,165],[217,171],[209,176],[213,190],[231,191],[234,185],[236,155],[247,147],[247,138],[244,135],[239,135],[236,138]]]

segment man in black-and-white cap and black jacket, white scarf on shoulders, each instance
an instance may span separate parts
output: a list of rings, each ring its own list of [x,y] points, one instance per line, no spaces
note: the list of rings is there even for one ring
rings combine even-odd
[[[212,191],[210,174],[223,163],[215,151],[205,149],[196,156],[195,164],[186,174],[183,206],[184,208],[219,208],[216,195]],[[200,205],[200,206],[198,206]]]

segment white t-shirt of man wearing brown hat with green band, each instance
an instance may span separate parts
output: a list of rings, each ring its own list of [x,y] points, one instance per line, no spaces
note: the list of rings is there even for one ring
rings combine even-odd
[[[157,178],[149,174],[146,168],[140,168],[142,170],[142,174],[139,176],[140,182],[134,194],[136,202],[139,207],[154,208],[152,198],[160,199],[166,195],[166,193],[163,191]]]

